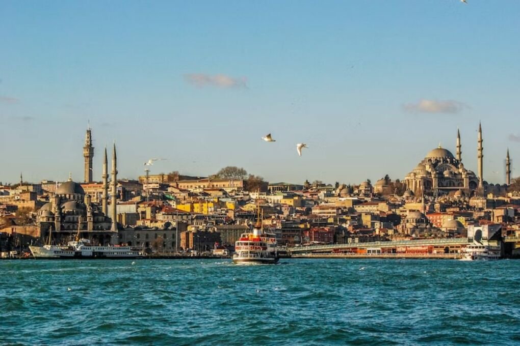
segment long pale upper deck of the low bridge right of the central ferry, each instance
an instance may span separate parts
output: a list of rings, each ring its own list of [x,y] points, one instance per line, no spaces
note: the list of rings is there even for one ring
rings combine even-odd
[[[331,245],[310,245],[288,247],[287,251],[292,254],[308,253],[330,253],[333,251],[348,250],[352,248],[371,248],[371,247],[400,247],[400,246],[450,246],[471,244],[467,238],[440,238],[440,239],[417,239],[417,240],[395,240],[377,241],[363,243],[331,244]]]

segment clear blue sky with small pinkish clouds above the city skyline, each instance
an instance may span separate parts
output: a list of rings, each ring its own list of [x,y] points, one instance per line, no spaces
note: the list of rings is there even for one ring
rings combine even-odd
[[[504,183],[519,17],[517,0],[4,0],[0,182],[82,181],[87,121],[97,181],[115,141],[123,178],[153,157],[151,174],[352,184],[454,154],[457,128],[476,171],[482,121],[484,178]]]

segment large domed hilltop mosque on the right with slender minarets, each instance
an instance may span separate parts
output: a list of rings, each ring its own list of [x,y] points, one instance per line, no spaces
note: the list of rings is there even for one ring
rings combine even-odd
[[[405,177],[406,195],[438,196],[484,196],[497,190],[495,185],[488,185],[483,179],[482,126],[478,126],[477,137],[477,174],[467,170],[462,163],[460,132],[457,131],[457,156],[440,145],[426,154]],[[506,156],[506,184],[511,182],[509,150]],[[501,186],[498,186],[501,187]]]

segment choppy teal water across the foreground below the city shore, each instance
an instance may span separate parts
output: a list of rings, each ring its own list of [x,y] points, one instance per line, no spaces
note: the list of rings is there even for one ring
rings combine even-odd
[[[4,260],[0,344],[510,345],[519,280],[514,260]]]

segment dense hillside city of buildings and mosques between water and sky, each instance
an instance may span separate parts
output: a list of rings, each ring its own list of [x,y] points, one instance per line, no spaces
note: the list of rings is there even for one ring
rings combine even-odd
[[[520,236],[520,193],[483,180],[482,129],[477,174],[457,155],[433,149],[402,181],[388,176],[358,185],[321,182],[262,183],[244,177],[190,177],[177,172],[117,178],[115,144],[108,172],[105,149],[101,181],[93,181],[94,148],[87,130],[84,182],[0,184],[2,251],[30,243],[62,243],[75,237],[94,244],[127,244],[150,252],[232,251],[240,234],[258,220],[281,246],[467,237],[473,225],[500,225]],[[94,172],[94,175],[93,175]]]

